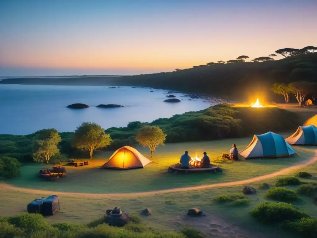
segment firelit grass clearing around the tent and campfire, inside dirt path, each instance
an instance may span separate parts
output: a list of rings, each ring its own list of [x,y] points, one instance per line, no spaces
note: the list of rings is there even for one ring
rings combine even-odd
[[[21,174],[13,180],[7,180],[16,187],[53,190],[61,192],[85,193],[126,193],[153,191],[167,188],[189,187],[207,185],[212,183],[232,182],[259,175],[269,174],[274,171],[289,167],[297,162],[310,159],[314,153],[307,148],[298,148],[300,156],[281,159],[252,159],[239,162],[220,163],[223,173],[195,173],[174,175],[168,173],[168,166],[179,162],[179,157],[185,150],[191,156],[202,156],[206,151],[211,162],[219,162],[219,155],[231,148],[236,143],[239,150],[246,147],[251,141],[249,138],[225,139],[211,142],[186,142],[167,144],[159,147],[154,153],[152,163],[145,169],[110,170],[100,169],[113,152],[102,152],[97,155],[89,166],[67,167],[67,176],[57,182],[43,181],[37,173],[46,168],[44,164],[28,164],[21,167]],[[142,154],[149,157],[147,148],[137,146]]]

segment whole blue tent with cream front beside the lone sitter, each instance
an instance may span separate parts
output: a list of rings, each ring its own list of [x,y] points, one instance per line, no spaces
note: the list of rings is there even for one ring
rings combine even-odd
[[[295,154],[295,150],[284,140],[283,136],[268,132],[254,135],[252,142],[239,155],[244,158],[280,158]]]

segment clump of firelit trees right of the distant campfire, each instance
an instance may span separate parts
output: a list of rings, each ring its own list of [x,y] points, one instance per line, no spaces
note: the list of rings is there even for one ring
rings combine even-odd
[[[310,96],[315,102],[317,83],[315,82],[293,82],[289,84],[275,83],[272,88],[275,94],[284,96],[285,102],[289,102],[289,94],[293,94],[301,107],[305,98]]]

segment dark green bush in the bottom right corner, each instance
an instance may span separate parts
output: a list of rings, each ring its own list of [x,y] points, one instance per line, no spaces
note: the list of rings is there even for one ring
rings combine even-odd
[[[292,231],[305,238],[316,238],[317,220],[313,218],[301,218],[298,221],[286,221],[283,228]]]

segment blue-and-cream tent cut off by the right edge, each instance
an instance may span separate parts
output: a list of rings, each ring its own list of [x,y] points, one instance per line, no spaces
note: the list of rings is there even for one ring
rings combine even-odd
[[[296,132],[285,140],[291,145],[316,145],[317,127],[314,125],[299,126]]]

